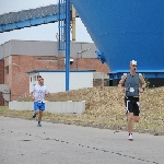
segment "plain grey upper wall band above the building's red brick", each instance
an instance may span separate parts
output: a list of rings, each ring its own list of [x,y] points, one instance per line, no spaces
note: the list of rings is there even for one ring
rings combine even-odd
[[[72,58],[97,58],[94,43],[70,44],[70,57]],[[23,56],[59,56],[57,42],[43,40],[10,40],[0,45],[0,59],[10,55]],[[62,55],[65,57],[65,54]]]

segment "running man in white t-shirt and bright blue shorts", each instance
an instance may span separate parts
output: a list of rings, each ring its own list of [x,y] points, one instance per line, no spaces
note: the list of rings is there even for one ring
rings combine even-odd
[[[34,114],[33,118],[38,115],[38,125],[37,127],[42,127],[40,121],[43,117],[43,112],[45,110],[45,96],[49,96],[47,87],[44,85],[44,79],[38,75],[37,78],[38,84],[33,86],[32,98],[34,101]]]

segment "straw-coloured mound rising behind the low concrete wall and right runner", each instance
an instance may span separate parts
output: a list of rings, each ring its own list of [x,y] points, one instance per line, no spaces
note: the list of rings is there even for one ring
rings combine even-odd
[[[140,96],[141,122],[138,129],[164,131],[164,87],[147,89]],[[26,97],[22,101],[30,101]],[[46,98],[50,102],[85,101],[85,112],[79,116],[92,122],[99,121],[126,127],[124,94],[117,86],[89,87],[54,93]]]

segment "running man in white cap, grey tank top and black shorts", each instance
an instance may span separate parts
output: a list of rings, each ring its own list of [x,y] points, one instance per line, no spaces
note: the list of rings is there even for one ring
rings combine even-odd
[[[125,93],[125,104],[127,107],[128,115],[128,139],[132,138],[132,120],[139,122],[140,109],[139,109],[139,96],[140,93],[144,92],[147,83],[141,73],[137,73],[137,61],[130,61],[130,73],[124,73],[118,86]],[[140,86],[141,83],[141,86]]]

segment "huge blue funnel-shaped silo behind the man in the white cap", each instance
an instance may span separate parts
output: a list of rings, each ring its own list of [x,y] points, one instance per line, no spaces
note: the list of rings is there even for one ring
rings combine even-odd
[[[110,69],[110,79],[129,71],[164,79],[164,0],[71,0]]]

